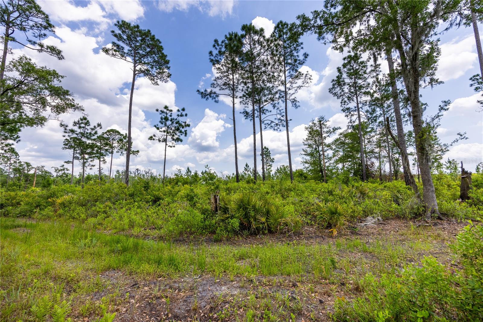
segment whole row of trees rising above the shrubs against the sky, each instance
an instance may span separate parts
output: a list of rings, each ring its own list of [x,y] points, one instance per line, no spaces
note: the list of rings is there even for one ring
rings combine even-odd
[[[33,0],[7,0],[0,7],[0,24],[5,29],[0,65],[0,144],[4,152],[2,171],[7,173],[7,182],[10,182],[14,178],[11,172],[27,175],[32,169],[28,162],[18,160],[14,149],[14,144],[20,140],[20,131],[43,126],[47,120],[58,119],[63,113],[82,112],[83,107],[74,101],[71,91],[59,85],[63,76],[55,70],[38,66],[25,55],[9,59],[10,44],[64,59],[57,47],[42,42],[47,33],[55,32],[48,15]],[[206,100],[231,103],[234,179],[237,182],[241,179],[235,121],[239,104],[243,108],[242,116],[252,122],[253,181],[259,179],[257,131],[260,133],[261,179],[272,175],[269,166],[273,161],[263,143],[265,129],[285,129],[287,171],[290,180],[294,180],[288,109],[298,107],[298,91],[311,83],[310,74],[301,69],[308,53],[303,52],[300,38],[304,34],[315,34],[322,43],[347,53],[337,68],[329,92],[340,101],[349,125],[341,129],[332,126],[324,116],[314,118],[307,126],[308,134],[303,142],[305,171],[301,173],[324,182],[338,174],[362,180],[377,177],[391,181],[399,177],[402,168],[406,185],[412,187],[426,207],[426,218],[438,214],[431,175],[443,167],[454,171],[455,161],[448,160],[443,165],[442,156],[452,144],[466,136],[458,133],[452,143],[440,142],[436,130],[451,102],[442,101],[438,112],[430,116],[421,89],[442,83],[436,77],[440,56],[438,35],[462,25],[473,27],[483,74],[478,36],[478,22],[482,21],[481,1],[331,0],[325,1],[324,8],[311,15],[298,15],[296,22],[279,21],[270,35],[253,24],[244,24],[240,31],[228,32],[221,40],[215,39],[213,50],[209,52],[215,71],[213,81],[210,88],[198,90],[198,93]],[[71,164],[71,184],[74,183],[75,161],[82,168],[81,185],[85,182],[85,168],[92,168],[94,163],[97,163],[98,180],[101,180],[101,164],[107,163],[107,159],[110,160],[108,177],[111,177],[114,153],[126,155],[123,181],[129,184],[133,173],[129,169],[130,156],[138,152],[133,150],[131,138],[136,79],[143,76],[158,85],[171,76],[170,61],[161,41],[149,29],[126,21],[118,21],[114,27],[111,31],[114,42],[102,51],[125,61],[132,70],[128,131],[121,133],[110,129],[99,133],[101,124],[91,125],[86,116],[75,120],[71,126],[61,122],[65,136],[62,148],[70,151],[70,160],[66,163]],[[22,32],[16,32],[18,30]],[[386,74],[381,72],[383,62],[387,63],[389,72]],[[480,91],[483,87],[481,75],[472,76],[469,85]],[[483,100],[478,102],[483,104]],[[164,106],[156,111],[160,114],[155,126],[158,133],[149,139],[164,145],[164,179],[167,148],[182,142],[190,125],[184,120],[187,116],[184,108],[175,112]],[[414,155],[409,153],[411,147]],[[414,164],[411,164],[411,157]],[[412,167],[416,173],[412,173]],[[279,173],[283,168],[279,168]],[[33,167],[34,171],[40,172],[40,169],[43,168]],[[247,171],[245,167],[243,172]],[[422,195],[416,176],[423,185]],[[16,176],[19,177],[24,180],[22,175]]]

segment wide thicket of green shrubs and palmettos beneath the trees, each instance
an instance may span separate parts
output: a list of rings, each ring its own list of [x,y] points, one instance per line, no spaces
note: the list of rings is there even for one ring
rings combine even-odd
[[[223,180],[208,168],[201,176],[195,173],[169,177],[164,184],[139,178],[129,187],[114,181],[99,185],[94,180],[87,182],[84,189],[57,184],[23,191],[9,185],[1,190],[0,214],[80,220],[89,228],[165,240],[206,234],[224,238],[294,232],[315,223],[340,232],[344,224],[367,216],[418,218],[424,214],[411,188],[400,180],[362,183],[339,176],[325,184],[297,176],[291,184],[288,171],[284,177],[275,177],[256,184],[236,183],[235,178]],[[438,203],[446,216],[482,217],[481,175],[473,174],[468,203],[458,201],[459,184],[450,176],[435,175],[434,182]],[[219,214],[212,213],[210,204],[216,190],[221,191]],[[332,216],[317,220],[318,214],[313,214],[318,211],[326,216],[327,206],[336,204],[339,206],[334,220],[337,218],[339,226],[336,221],[330,223]]]

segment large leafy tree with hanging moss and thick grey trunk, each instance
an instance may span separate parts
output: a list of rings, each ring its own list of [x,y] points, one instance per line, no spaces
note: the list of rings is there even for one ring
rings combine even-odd
[[[334,0],[325,2],[325,7],[325,10],[314,11],[312,19],[299,16],[301,28],[316,32],[319,40],[331,42],[337,49],[346,46],[382,51],[385,47],[398,53],[400,75],[411,107],[426,220],[431,220],[431,215],[439,215],[439,210],[428,161],[429,151],[424,145],[429,133],[424,127],[420,88],[439,83],[435,77],[439,39],[434,37],[460,26],[460,13],[476,8],[470,7],[470,1],[441,0]],[[446,26],[441,27],[442,24]]]

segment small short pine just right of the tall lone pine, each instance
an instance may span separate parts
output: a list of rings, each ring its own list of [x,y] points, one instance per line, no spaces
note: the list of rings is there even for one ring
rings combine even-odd
[[[173,116],[173,110],[167,105],[163,109],[156,108],[156,112],[159,113],[159,125],[155,124],[155,128],[161,134],[153,134],[148,139],[157,142],[164,143],[164,165],[163,165],[163,181],[166,174],[166,150],[169,147],[174,147],[178,143],[183,142],[182,136],[188,135],[187,128],[190,127],[189,123],[181,120],[182,117],[187,117],[185,108],[176,111],[176,115]]]

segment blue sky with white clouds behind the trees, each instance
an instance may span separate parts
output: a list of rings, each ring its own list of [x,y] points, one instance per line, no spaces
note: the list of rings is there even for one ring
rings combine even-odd
[[[110,30],[116,20],[124,19],[150,29],[161,40],[170,59],[170,81],[159,86],[140,77],[136,80],[132,112],[133,148],[138,156],[131,157],[130,169],[163,168],[164,146],[148,137],[156,133],[159,117],[156,108],[168,105],[172,109],[185,107],[191,127],[187,137],[176,147],[168,148],[167,175],[187,167],[201,171],[205,165],[217,173],[234,173],[233,129],[231,104],[205,101],[197,89],[208,88],[213,77],[208,52],[214,39],[222,39],[230,31],[240,31],[241,25],[252,22],[270,32],[279,20],[292,22],[302,13],[321,9],[319,1],[38,1],[56,26],[45,44],[54,44],[63,51],[64,60],[25,48],[15,48],[11,57],[25,54],[37,64],[57,70],[65,76],[61,85],[70,89],[78,103],[84,106],[91,123],[102,123],[102,131],[117,129],[127,132],[131,70],[124,61],[110,58],[101,48],[113,41]],[[483,34],[483,26],[480,26]],[[290,145],[295,168],[302,167],[300,152],[305,138],[305,126],[311,119],[324,115],[332,126],[345,127],[347,120],[340,103],[328,93],[343,54],[321,44],[313,35],[301,39],[309,54],[304,71],[312,75],[312,83],[297,94],[298,109],[289,108]],[[442,142],[451,142],[457,132],[467,132],[468,140],[453,146],[446,158],[464,161],[474,170],[483,161],[483,113],[477,112],[480,93],[469,87],[469,77],[479,73],[476,45],[472,28],[452,29],[440,36],[441,57],[438,77],[444,84],[422,90],[422,100],[428,103],[427,114],[435,114],[440,101],[451,100],[450,109],[438,130]],[[382,63],[382,70],[387,65]],[[253,166],[253,130],[251,122],[242,119],[237,109],[237,139],[239,168],[245,162]],[[62,115],[69,124],[80,113]],[[409,129],[409,128],[407,128]],[[257,129],[258,131],[258,129]],[[288,164],[285,132],[263,131],[264,145],[274,157],[274,169]],[[16,145],[22,161],[47,169],[70,160],[69,151],[62,150],[62,130],[59,122],[50,120],[42,128],[21,132]],[[257,149],[260,150],[257,132]],[[258,152],[259,153],[259,152]],[[125,167],[124,156],[115,156],[113,170]],[[260,167],[260,161],[257,165]],[[75,172],[81,169],[76,164]],[[95,172],[96,169],[91,170]],[[104,169],[108,171],[107,165]]]

